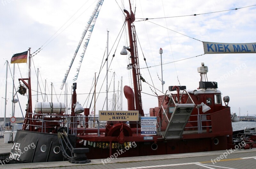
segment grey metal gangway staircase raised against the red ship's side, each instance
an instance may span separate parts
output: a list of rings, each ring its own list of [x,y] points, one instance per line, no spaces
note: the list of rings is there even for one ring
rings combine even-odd
[[[164,109],[163,102],[166,96],[168,96],[170,100],[167,104],[167,108]],[[185,98],[187,98],[186,101],[184,100]],[[181,138],[191,112],[195,107],[195,103],[187,90],[183,90],[178,102],[174,101],[172,94],[165,94],[163,102],[161,104],[161,109],[158,112],[161,113],[162,110],[163,113],[161,122],[162,136],[164,139]]]

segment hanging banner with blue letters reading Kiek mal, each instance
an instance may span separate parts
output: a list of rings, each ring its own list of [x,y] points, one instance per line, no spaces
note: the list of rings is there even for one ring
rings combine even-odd
[[[216,43],[203,42],[204,53],[256,53],[255,43]]]

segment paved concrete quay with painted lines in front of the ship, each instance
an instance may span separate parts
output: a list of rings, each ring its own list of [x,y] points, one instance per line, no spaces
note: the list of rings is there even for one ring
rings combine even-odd
[[[224,150],[129,158],[92,159],[87,164],[71,164],[68,161],[0,165],[0,168],[54,168],[54,169],[137,169],[137,168],[255,168],[256,149]]]

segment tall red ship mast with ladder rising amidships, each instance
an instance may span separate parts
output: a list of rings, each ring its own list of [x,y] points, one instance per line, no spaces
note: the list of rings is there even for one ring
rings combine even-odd
[[[136,33],[135,33],[135,27],[134,25],[132,25],[133,21],[135,20],[135,16],[132,12],[131,4],[130,4],[130,11],[131,11],[131,15],[127,10],[124,10],[124,12],[126,13],[125,21],[127,21],[129,44],[130,44],[130,49],[127,49],[127,50],[131,53],[130,58],[132,62],[132,80],[133,80],[136,110],[139,111],[139,114],[141,116],[144,116],[144,112],[141,104],[141,93],[140,93],[141,82],[139,78],[140,69],[139,69],[139,59],[137,55]],[[133,30],[133,34],[132,34],[132,30]]]

